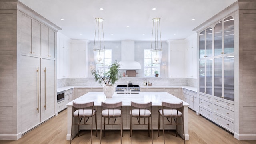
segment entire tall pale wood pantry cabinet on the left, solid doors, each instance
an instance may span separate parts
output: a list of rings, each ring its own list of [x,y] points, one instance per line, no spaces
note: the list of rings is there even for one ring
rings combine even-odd
[[[0,140],[17,140],[55,115],[61,28],[19,1],[0,2]]]

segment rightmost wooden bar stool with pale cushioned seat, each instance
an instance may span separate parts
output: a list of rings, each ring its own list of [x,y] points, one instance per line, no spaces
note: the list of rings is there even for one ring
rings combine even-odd
[[[182,125],[184,144],[186,144],[185,132],[184,132],[183,102],[176,103],[176,104],[162,102],[162,109],[158,110],[158,136],[159,136],[161,117],[162,117],[162,124],[163,124],[163,135],[164,135],[164,125],[176,125],[176,136],[177,136],[177,126]],[[178,123],[178,118],[180,117],[182,117],[182,122]],[[168,123],[164,123],[164,118],[167,118]],[[165,138],[164,138],[164,143],[165,143]]]

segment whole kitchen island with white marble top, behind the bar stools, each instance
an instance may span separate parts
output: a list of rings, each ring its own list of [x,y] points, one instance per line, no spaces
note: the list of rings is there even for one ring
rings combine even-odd
[[[94,101],[95,109],[97,110],[97,127],[100,130],[100,112],[101,112],[101,102],[107,103],[115,103],[115,102],[123,102],[123,130],[130,130],[130,103],[139,102],[146,103],[152,102],[152,118],[153,118],[153,130],[158,129],[158,110],[162,106],[162,101],[164,102],[172,102],[178,103],[180,101],[179,98],[169,94],[168,92],[137,92],[134,94],[119,94],[117,92],[114,93],[112,98],[106,98],[103,92],[88,92],[79,98],[73,100],[78,103],[92,102]],[[72,101],[72,102],[73,102]],[[68,106],[68,124],[67,124],[67,136],[66,139],[70,140],[70,130],[71,130],[71,120],[72,120],[72,102],[67,104]],[[188,135],[188,103],[183,101],[184,108],[184,129],[185,129],[185,138],[189,140]],[[119,119],[116,121],[118,122]],[[95,124],[95,122],[94,122]],[[95,128],[95,126],[93,126]],[[73,126],[73,137],[77,134],[77,127]],[[162,128],[162,124],[160,124],[160,128]],[[80,130],[89,130],[90,126],[81,126]],[[175,126],[169,126],[165,128],[166,130],[175,130]],[[106,130],[120,130],[120,126],[106,126]],[[134,130],[147,130],[147,126],[134,126]],[[178,133],[181,137],[183,137],[182,126],[178,126]]]

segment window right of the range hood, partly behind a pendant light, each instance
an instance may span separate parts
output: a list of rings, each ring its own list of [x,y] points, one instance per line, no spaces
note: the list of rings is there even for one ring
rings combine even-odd
[[[160,64],[152,64],[151,50],[144,50],[144,76],[154,76],[155,71],[160,74]]]

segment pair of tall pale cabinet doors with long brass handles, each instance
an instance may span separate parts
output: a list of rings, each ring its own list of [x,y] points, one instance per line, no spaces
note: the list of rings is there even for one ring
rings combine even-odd
[[[55,61],[21,56],[22,133],[55,115]]]

